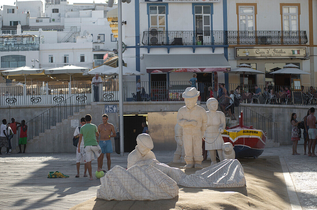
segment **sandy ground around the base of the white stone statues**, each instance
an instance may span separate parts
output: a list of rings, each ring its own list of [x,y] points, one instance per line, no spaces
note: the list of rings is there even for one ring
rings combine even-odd
[[[291,209],[278,156],[239,159],[247,185],[241,188],[186,188],[173,199],[106,201],[96,197],[71,209]],[[184,164],[169,164],[180,168]],[[203,162],[204,167],[210,161]],[[191,174],[196,169],[184,170]]]

